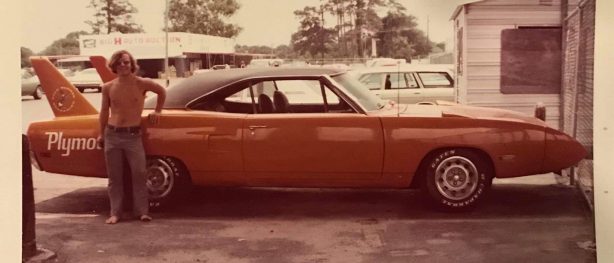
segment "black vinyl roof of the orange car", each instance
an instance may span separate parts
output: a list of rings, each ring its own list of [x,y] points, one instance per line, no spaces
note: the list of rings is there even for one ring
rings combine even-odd
[[[185,108],[192,100],[211,93],[219,88],[238,83],[243,80],[267,77],[317,77],[321,75],[337,75],[345,72],[335,68],[236,68],[214,70],[186,78],[177,85],[167,89],[164,108]],[[145,108],[154,108],[156,97],[148,98]]]

